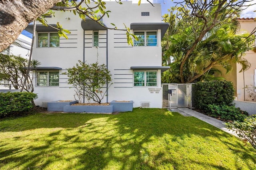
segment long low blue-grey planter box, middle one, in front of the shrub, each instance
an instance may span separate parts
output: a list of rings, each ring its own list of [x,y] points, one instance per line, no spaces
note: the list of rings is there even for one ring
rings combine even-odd
[[[71,113],[113,113],[113,106],[81,106],[81,105],[66,105],[63,107],[64,112],[71,112]]]

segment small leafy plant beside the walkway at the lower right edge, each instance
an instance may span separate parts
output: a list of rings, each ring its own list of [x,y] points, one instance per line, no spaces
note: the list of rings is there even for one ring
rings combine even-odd
[[[254,148],[256,148],[256,115],[247,117],[243,122],[234,121],[232,123],[225,123],[226,128],[238,132],[238,136],[244,138]]]

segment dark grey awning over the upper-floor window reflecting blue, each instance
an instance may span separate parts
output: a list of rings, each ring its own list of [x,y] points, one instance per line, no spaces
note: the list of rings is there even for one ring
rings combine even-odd
[[[130,25],[131,30],[161,30],[161,39],[164,37],[167,29],[169,28],[169,23],[132,23]]]

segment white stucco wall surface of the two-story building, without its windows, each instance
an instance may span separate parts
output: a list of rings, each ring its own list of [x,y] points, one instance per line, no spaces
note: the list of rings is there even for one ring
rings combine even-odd
[[[114,23],[118,29],[124,29],[124,24],[130,28],[131,23],[161,22],[160,4],[154,4],[153,7],[151,4],[138,6],[132,2],[122,2],[122,5],[116,2],[106,3],[106,8],[111,13],[109,18],[103,18],[103,22],[108,27],[113,27],[110,23]],[[150,16],[141,16],[141,12],[150,12]],[[47,18],[48,24],[56,24],[58,21],[62,28],[70,30],[71,34],[67,34],[68,40],[60,38],[59,48],[38,48],[34,43],[33,57],[42,63],[40,67],[62,68],[59,87],[35,87],[34,93],[38,93],[36,105],[42,105],[42,102],[74,99],[74,89],[69,88],[71,86],[67,84],[67,75],[61,73],[73,67],[78,60],[95,62],[98,52],[98,62],[108,64],[113,83],[108,91],[108,97],[105,97],[103,102],[133,100],[134,107],[140,107],[141,102],[149,102],[150,107],[162,108],[161,70],[157,70],[157,87],[134,87],[133,70],[130,69],[132,66],[162,66],[160,30],[141,30],[156,31],[158,34],[158,45],[148,47],[128,45],[125,31],[100,30],[99,47],[96,48],[92,47],[93,30],[84,31],[78,16],[58,11],[55,15],[55,18]],[[34,82],[36,83],[36,79]],[[150,88],[155,90],[152,91]]]

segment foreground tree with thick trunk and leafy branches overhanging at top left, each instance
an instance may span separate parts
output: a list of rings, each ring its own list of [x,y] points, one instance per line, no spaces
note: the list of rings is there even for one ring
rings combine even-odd
[[[148,1],[148,0],[147,0]],[[80,18],[85,20],[86,17],[95,20],[99,24],[102,17],[109,16],[110,11],[106,10],[106,2],[102,0],[0,0],[0,51],[6,49],[20,33],[34,20],[40,21],[47,25],[46,16],[54,15],[52,10],[73,11]],[[121,0],[116,0],[122,4]],[[149,2],[149,1],[148,1]],[[151,2],[150,2],[151,4]],[[140,0],[138,5],[140,5]],[[48,11],[50,10],[50,11]],[[47,12],[48,11],[48,12]],[[112,24],[116,29],[116,26]],[[65,32],[60,23],[57,23],[56,29],[60,36],[65,36]],[[132,34],[129,28],[125,29],[128,43],[132,43]],[[136,36],[133,36],[136,38]]]

